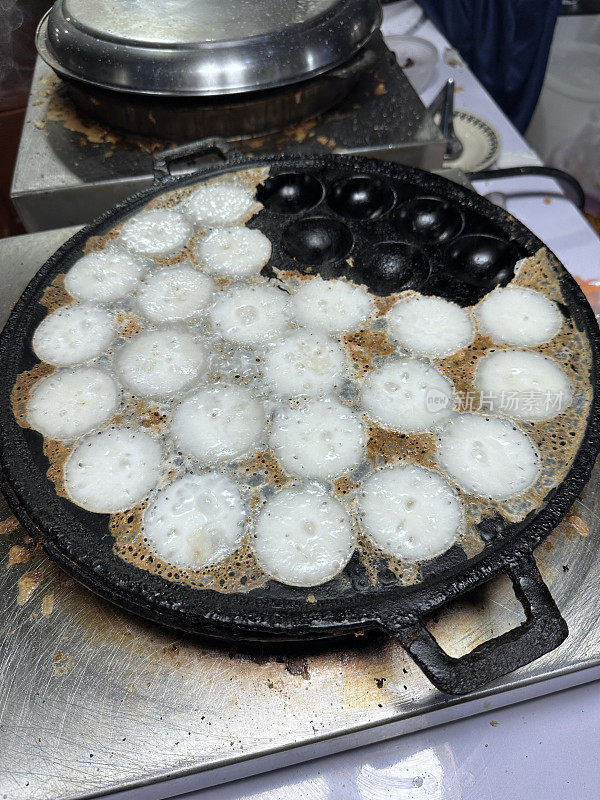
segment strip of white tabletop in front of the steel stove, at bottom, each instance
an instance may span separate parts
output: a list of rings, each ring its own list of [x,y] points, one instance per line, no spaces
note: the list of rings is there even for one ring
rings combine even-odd
[[[590,683],[186,800],[570,800],[600,796]]]

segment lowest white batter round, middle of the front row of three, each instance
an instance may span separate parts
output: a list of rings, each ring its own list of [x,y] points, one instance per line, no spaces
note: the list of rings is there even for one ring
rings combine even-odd
[[[356,546],[341,503],[316,488],[282,489],[262,508],[252,548],[260,567],[290,586],[318,586],[350,560]]]

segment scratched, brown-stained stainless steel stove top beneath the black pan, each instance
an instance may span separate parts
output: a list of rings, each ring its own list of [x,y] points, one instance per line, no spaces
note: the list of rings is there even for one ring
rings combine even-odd
[[[0,325],[74,230],[0,241]],[[144,623],[61,573],[0,502],[0,798],[171,797],[600,677],[599,477],[536,551],[568,639],[458,698],[383,635],[248,649]],[[460,655],[522,619],[501,576],[430,626]]]

